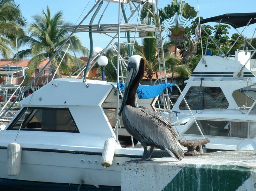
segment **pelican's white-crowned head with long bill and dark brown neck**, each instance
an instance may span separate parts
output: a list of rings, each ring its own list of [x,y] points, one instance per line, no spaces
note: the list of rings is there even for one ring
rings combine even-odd
[[[135,98],[135,93],[144,74],[145,63],[145,58],[140,55],[133,55],[128,59],[125,90],[119,110],[119,116],[122,114],[123,108],[127,103],[128,94],[130,94],[130,96],[133,95]],[[129,97],[129,99],[133,99],[133,97]],[[129,102],[134,102],[134,100],[129,100]]]

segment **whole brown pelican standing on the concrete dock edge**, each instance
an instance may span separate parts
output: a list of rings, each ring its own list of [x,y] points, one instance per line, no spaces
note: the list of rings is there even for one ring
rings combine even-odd
[[[168,118],[145,107],[136,107],[135,94],[144,74],[146,61],[139,55],[128,60],[125,90],[119,110],[124,126],[129,134],[144,147],[142,160],[150,159],[154,147],[166,150],[173,158],[182,160],[184,152],[177,141],[178,134],[174,131]],[[146,158],[147,146],[151,146]]]

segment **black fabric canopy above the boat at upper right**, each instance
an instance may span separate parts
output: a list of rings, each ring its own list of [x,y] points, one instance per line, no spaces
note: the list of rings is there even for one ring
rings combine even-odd
[[[222,19],[222,20],[221,20]],[[228,13],[224,15],[219,15],[216,17],[211,17],[208,19],[200,20],[201,24],[207,22],[220,22],[231,25],[233,28],[237,29],[240,27],[245,27],[248,22],[251,20],[249,24],[256,23],[256,13]]]

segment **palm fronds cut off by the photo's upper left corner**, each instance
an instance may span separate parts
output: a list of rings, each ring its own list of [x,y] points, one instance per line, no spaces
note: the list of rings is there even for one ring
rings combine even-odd
[[[0,1],[0,54],[3,57],[14,56],[11,48],[16,48],[17,36],[24,35],[21,27],[25,26],[25,21],[14,0]]]

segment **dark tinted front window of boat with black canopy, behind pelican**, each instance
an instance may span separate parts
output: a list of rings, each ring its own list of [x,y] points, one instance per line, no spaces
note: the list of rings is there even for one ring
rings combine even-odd
[[[220,87],[190,87],[185,99],[191,110],[196,109],[226,109],[228,101]],[[187,110],[182,100],[180,110]]]

